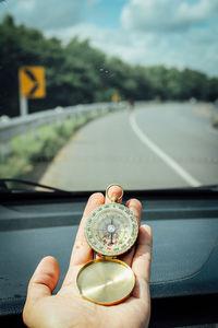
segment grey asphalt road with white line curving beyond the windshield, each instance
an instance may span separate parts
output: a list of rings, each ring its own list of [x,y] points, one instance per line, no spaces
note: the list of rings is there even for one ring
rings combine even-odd
[[[80,129],[40,183],[68,190],[218,184],[218,131],[207,105],[141,104]]]

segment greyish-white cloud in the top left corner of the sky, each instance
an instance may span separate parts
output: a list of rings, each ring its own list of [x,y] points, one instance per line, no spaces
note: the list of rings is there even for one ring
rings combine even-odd
[[[16,23],[40,30],[68,27],[83,20],[76,0],[10,0],[0,16],[7,13],[14,15]]]

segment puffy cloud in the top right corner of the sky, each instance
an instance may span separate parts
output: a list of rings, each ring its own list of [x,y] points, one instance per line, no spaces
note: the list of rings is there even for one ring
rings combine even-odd
[[[123,8],[121,24],[141,32],[185,31],[218,19],[217,0],[130,0]]]

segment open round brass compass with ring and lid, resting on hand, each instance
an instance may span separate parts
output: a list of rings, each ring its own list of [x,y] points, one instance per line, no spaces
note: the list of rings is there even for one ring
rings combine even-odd
[[[112,305],[125,300],[135,285],[132,269],[118,256],[126,253],[136,242],[138,223],[131,210],[118,203],[120,198],[96,208],[86,219],[85,237],[89,246],[100,256],[86,263],[77,274],[77,288],[86,300]],[[116,185],[119,186],[119,185]]]

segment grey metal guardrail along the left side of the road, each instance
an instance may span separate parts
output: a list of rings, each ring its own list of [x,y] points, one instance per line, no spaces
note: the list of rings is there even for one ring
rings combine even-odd
[[[111,109],[122,109],[125,103],[97,103],[76,105],[70,107],[57,107],[44,112],[37,112],[23,117],[9,118],[0,122],[0,151],[4,156],[10,152],[10,141],[16,136],[26,134],[45,125],[61,125],[66,118],[76,118],[87,113],[108,113]]]

